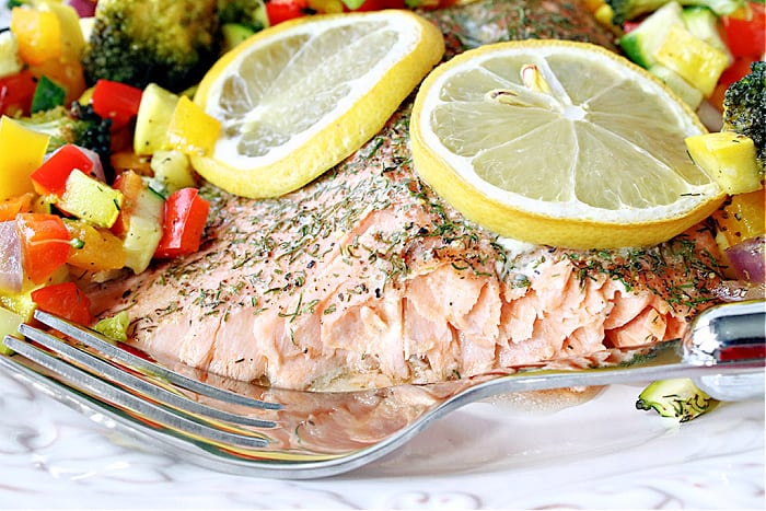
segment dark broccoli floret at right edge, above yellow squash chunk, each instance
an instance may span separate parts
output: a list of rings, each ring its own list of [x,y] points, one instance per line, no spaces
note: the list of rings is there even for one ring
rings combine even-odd
[[[761,174],[766,164],[766,61],[753,62],[750,74],[732,83],[723,95],[721,131],[753,139]]]

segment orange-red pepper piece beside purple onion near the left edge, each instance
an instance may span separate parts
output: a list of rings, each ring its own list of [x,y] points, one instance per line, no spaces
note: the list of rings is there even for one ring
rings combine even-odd
[[[71,245],[67,227],[55,214],[19,213],[16,229],[24,272],[33,282],[44,282],[69,257]]]

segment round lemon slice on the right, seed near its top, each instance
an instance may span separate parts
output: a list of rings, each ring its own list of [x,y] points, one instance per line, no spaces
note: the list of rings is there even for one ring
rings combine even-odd
[[[720,187],[686,153],[705,131],[661,82],[585,43],[523,40],[429,74],[410,120],[417,172],[503,236],[653,245],[710,214]]]

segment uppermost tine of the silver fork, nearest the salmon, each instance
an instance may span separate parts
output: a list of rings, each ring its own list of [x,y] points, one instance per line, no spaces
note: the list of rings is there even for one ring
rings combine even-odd
[[[187,391],[192,391],[197,394],[212,397],[213,399],[219,399],[233,405],[243,405],[253,408],[269,410],[279,410],[282,408],[282,405],[279,403],[268,403],[259,399],[253,399],[245,395],[236,394],[212,385],[207,385],[197,380],[193,380],[190,378],[184,376],[183,374],[178,374],[174,371],[163,368],[160,364],[142,359],[130,353],[127,350],[118,348],[117,346],[106,340],[105,337],[98,334],[97,332],[82,328],[54,314],[49,314],[47,312],[37,310],[35,311],[35,318],[44,325],[59,330],[62,334],[71,337],[72,339],[79,340],[83,345],[93,348],[101,353],[104,353],[113,360],[117,360],[119,362],[125,363],[126,365],[129,365],[130,368],[147,371],[159,378],[165,379],[174,385],[177,385],[182,388],[186,388]],[[22,325],[22,327],[26,325]]]

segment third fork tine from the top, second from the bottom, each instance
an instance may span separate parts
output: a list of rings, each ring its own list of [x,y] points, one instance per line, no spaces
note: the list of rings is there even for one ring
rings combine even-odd
[[[224,431],[202,423],[198,420],[194,420],[177,413],[176,410],[152,403],[149,399],[136,396],[124,388],[120,388],[107,381],[101,380],[100,378],[96,378],[67,361],[47,353],[44,350],[15,337],[5,337],[3,344],[26,359],[44,367],[49,371],[53,371],[56,374],[60,374],[66,380],[78,382],[81,391],[91,392],[94,396],[100,396],[112,406],[124,410],[130,410],[147,420],[164,425],[171,429],[179,430],[186,434],[202,439],[204,441],[218,444],[236,445],[245,449],[263,449],[269,443],[268,440],[263,437],[244,435]],[[1,361],[2,363],[13,364],[15,369],[23,371],[24,374],[33,378],[35,381],[39,381],[40,378],[46,378],[33,369],[27,368],[23,363],[14,360],[14,358],[3,357]]]

